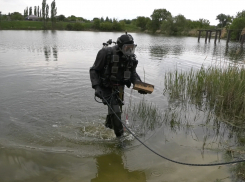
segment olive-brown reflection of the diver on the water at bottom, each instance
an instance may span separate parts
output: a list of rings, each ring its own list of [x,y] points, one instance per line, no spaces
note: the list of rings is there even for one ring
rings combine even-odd
[[[110,153],[103,156],[96,157],[97,174],[91,179],[91,182],[104,181],[146,181],[146,176],[143,171],[130,171],[125,169],[122,156],[117,153]]]

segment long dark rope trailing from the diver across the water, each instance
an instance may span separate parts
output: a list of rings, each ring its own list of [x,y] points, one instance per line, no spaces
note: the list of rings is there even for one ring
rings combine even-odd
[[[144,142],[142,142],[123,122],[122,120],[117,116],[117,114],[115,113],[115,111],[112,109],[112,107],[110,106],[110,104],[107,102],[107,100],[102,97],[102,99],[105,101],[105,103],[108,105],[108,107],[112,110],[112,112],[115,114],[115,116],[117,117],[117,119],[122,123],[122,125],[129,131],[129,133],[131,133],[133,135],[133,137],[138,140],[144,147],[146,147],[148,150],[150,150],[152,153],[158,155],[159,157],[168,160],[170,162],[176,163],[176,164],[181,164],[181,165],[186,165],[186,166],[221,166],[221,165],[228,165],[228,164],[235,164],[235,163],[241,163],[241,162],[245,162],[245,160],[238,160],[238,161],[231,161],[231,162],[220,162],[220,163],[213,163],[213,164],[193,164],[193,163],[185,163],[185,162],[179,162],[179,161],[175,161],[172,160],[170,158],[167,158],[159,153],[157,153],[156,151],[154,151],[153,149],[151,149],[150,147],[148,147]]]

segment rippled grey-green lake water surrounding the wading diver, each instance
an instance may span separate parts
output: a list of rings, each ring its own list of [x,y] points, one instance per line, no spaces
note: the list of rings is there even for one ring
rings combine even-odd
[[[123,145],[104,127],[107,107],[94,100],[89,68],[102,43],[121,33],[72,31],[0,31],[0,181],[233,181],[230,166],[189,167],[154,155],[125,134]],[[125,90],[129,100],[143,99],[163,113],[166,72],[220,62],[241,63],[239,43],[214,45],[193,37],[132,33],[137,72],[155,85],[143,96]],[[125,111],[126,112],[126,111]],[[197,111],[194,111],[197,112]],[[123,118],[125,118],[123,113]],[[203,113],[199,113],[201,117]],[[129,128],[149,147],[189,163],[226,161],[221,141],[234,142],[224,125],[203,127],[201,119],[171,127],[142,129],[129,117]],[[218,134],[217,134],[218,133]],[[207,144],[208,143],[208,144]]]

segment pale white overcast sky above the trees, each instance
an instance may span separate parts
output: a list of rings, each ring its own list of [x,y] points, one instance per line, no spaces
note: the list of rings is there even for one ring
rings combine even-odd
[[[43,0],[0,0],[2,14],[20,12],[28,6],[42,6]],[[53,0],[47,0],[51,4]],[[92,20],[94,17],[134,19],[137,16],[150,17],[154,9],[167,9],[173,16],[182,14],[187,19],[208,19],[217,25],[220,13],[235,16],[245,9],[244,0],[55,0],[57,15],[75,15]]]

